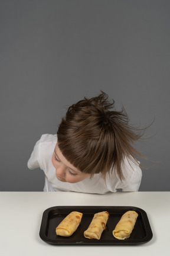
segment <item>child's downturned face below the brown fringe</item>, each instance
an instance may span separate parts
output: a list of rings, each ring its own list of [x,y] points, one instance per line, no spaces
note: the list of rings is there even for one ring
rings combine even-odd
[[[90,174],[83,174],[83,172],[71,165],[70,162],[64,158],[57,144],[52,156],[52,162],[55,168],[55,175],[60,181],[78,183],[79,181],[83,181],[90,176]]]

